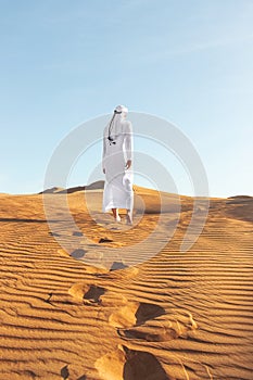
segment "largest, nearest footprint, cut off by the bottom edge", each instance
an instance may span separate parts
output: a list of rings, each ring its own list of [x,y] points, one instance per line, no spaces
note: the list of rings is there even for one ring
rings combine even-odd
[[[94,367],[103,380],[175,380],[153,354],[124,345],[100,357]]]

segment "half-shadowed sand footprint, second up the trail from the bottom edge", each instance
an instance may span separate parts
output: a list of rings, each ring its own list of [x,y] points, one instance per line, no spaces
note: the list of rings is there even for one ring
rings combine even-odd
[[[141,302],[128,302],[127,305],[111,314],[109,324],[116,328],[128,328],[144,324],[149,319],[165,314],[159,305]]]

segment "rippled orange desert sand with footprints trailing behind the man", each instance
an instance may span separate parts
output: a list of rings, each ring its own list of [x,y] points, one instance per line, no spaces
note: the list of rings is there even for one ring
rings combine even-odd
[[[135,187],[135,197],[126,227],[101,213],[94,187],[0,194],[1,380],[253,379],[253,198],[210,199],[202,233],[180,252],[193,200],[180,197],[177,220],[167,194],[152,257],[155,238],[137,243],[157,224],[159,194]],[[135,265],[110,256],[122,248]]]

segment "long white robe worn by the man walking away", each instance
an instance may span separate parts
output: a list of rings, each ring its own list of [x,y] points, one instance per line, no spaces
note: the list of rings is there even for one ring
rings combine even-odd
[[[127,208],[132,211],[132,170],[126,169],[126,162],[132,160],[132,128],[129,121],[116,115],[109,137],[109,125],[103,134],[103,169],[105,183],[103,191],[103,212],[111,208]]]

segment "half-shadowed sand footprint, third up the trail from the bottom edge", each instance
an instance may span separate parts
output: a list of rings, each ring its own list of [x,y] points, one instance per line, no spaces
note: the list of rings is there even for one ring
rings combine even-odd
[[[106,289],[96,284],[75,283],[68,289],[68,294],[85,304],[100,304],[101,295],[106,292]]]

